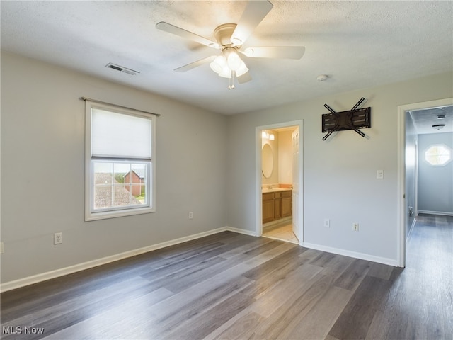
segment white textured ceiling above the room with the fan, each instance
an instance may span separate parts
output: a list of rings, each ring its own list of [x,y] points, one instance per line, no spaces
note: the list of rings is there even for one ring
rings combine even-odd
[[[209,64],[174,72],[218,50],[155,25],[215,40],[214,28],[237,23],[246,1],[2,0],[1,48],[226,115],[453,69],[453,1],[270,1],[245,47],[304,46],[305,55],[244,57],[253,80],[234,90]]]

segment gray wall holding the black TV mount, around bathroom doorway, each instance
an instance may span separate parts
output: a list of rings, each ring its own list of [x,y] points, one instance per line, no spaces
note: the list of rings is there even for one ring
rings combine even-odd
[[[398,259],[398,106],[452,95],[452,74],[313,98],[291,105],[234,115],[229,123],[229,225],[254,231],[256,220],[256,138],[258,126],[304,120],[304,244]],[[361,97],[372,107],[369,139],[353,131],[323,141],[321,115],[327,103],[350,109]],[[384,179],[376,171],[384,170]],[[329,218],[330,228],[323,227]],[[360,224],[352,232],[352,223]]]

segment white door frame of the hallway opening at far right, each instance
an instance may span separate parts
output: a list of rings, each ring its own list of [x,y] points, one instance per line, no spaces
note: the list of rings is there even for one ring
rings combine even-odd
[[[406,266],[406,111],[451,105],[453,98],[398,106],[398,267]]]

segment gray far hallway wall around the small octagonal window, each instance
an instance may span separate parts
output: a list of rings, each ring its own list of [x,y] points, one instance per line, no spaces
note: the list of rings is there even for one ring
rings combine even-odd
[[[453,162],[431,166],[425,151],[432,144],[453,149],[453,133],[418,135],[418,212],[453,215]]]

